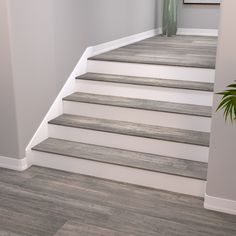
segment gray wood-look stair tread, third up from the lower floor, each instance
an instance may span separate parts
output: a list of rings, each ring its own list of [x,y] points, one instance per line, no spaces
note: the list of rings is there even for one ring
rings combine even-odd
[[[191,104],[182,104],[182,103],[173,103],[173,102],[155,101],[155,100],[128,98],[128,97],[118,97],[109,95],[99,95],[99,94],[90,94],[81,92],[73,93],[65,97],[63,100],[99,104],[99,105],[135,108],[142,110],[170,112],[170,113],[178,113],[185,115],[203,116],[203,117],[211,117],[211,110],[212,110],[211,107],[209,106],[200,106],[200,105],[191,105]]]

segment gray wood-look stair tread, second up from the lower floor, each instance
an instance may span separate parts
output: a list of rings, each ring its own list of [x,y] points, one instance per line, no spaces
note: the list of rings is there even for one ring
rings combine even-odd
[[[206,132],[138,124],[118,120],[99,119],[71,114],[63,114],[49,121],[49,124],[200,146],[209,146],[210,139],[210,134]]]

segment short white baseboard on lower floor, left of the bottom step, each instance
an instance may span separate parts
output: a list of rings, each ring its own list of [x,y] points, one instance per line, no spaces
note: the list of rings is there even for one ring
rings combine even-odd
[[[11,170],[24,171],[31,166],[31,162],[28,158],[15,159],[10,157],[0,156],[0,167]]]

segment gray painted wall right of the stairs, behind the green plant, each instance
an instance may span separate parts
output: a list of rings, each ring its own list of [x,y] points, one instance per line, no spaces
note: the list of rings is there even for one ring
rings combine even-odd
[[[236,79],[236,1],[223,0],[216,63],[215,92],[225,89]],[[214,97],[214,109],[219,104]],[[207,194],[236,201],[236,125],[225,123],[222,112],[214,113],[210,144]]]

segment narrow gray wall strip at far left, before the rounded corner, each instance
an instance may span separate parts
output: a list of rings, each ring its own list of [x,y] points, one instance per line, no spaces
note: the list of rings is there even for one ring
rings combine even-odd
[[[7,2],[0,1],[0,156],[16,157],[18,132],[7,11]]]

